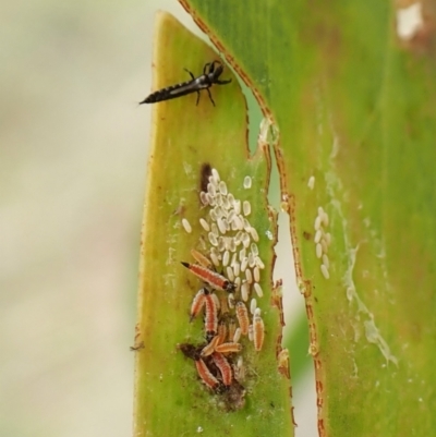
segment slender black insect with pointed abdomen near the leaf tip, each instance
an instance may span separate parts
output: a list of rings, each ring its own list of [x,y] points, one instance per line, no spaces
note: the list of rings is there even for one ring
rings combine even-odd
[[[214,84],[226,85],[231,82],[231,78],[229,78],[228,81],[219,80],[219,76],[221,75],[223,69],[225,68],[220,61],[208,62],[203,69],[203,74],[196,78],[189,70],[184,69],[187,73],[190,73],[192,81],[186,81],[178,85],[168,86],[167,88],[152,93],[148,97],[141,101],[140,105],[156,104],[157,101],[173,99],[191,93],[197,93],[196,105],[198,105],[199,92],[202,89],[206,89],[207,94],[209,95],[210,101],[215,106],[215,101],[211,98],[209,88]]]

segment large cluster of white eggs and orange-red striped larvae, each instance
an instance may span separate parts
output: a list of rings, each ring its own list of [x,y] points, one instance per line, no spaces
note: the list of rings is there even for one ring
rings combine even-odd
[[[216,392],[230,392],[231,406],[243,405],[245,366],[243,350],[250,343],[256,352],[263,348],[265,327],[257,299],[263,296],[259,284],[265,268],[259,257],[259,235],[250,223],[249,201],[241,202],[229,193],[216,169],[205,165],[199,193],[205,216],[199,224],[204,251],[192,250],[194,264],[182,263],[201,279],[203,287],[191,304],[191,320],[204,312],[206,343],[180,344],[182,352],[195,361],[203,383]],[[252,179],[245,177],[243,187],[250,190]],[[186,232],[192,227],[182,220]],[[243,340],[244,337],[249,341]]]

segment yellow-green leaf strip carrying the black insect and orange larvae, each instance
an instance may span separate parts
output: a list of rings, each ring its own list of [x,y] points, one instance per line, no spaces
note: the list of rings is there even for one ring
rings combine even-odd
[[[161,13],[157,21],[153,89],[189,80],[183,68],[201,74],[205,62],[217,59],[170,15]],[[222,77],[232,77],[229,69]],[[269,148],[259,147],[249,157],[245,100],[232,78],[229,85],[211,87],[216,107],[205,92],[198,106],[195,94],[154,106],[135,339],[135,436],[184,436],[203,430],[210,436],[290,435],[289,380],[278,372],[276,360],[279,311],[270,304],[275,241],[268,235],[276,233],[277,224],[266,203]],[[199,224],[199,218],[208,219],[209,211],[198,196],[205,163],[219,171],[235,198],[251,203],[249,219],[259,235],[258,251],[266,265],[261,280],[265,295],[257,299],[265,343],[255,352],[245,337],[241,341],[244,397],[235,384],[223,393],[205,387],[194,361],[180,351],[180,344],[205,344],[201,317],[190,324],[191,302],[203,284],[180,263],[193,262],[192,248],[206,253],[210,248]],[[253,181],[250,190],[243,186],[246,175]],[[183,229],[182,219],[191,223],[191,233]],[[227,300],[226,292],[217,294]],[[229,360],[237,363],[237,356]]]

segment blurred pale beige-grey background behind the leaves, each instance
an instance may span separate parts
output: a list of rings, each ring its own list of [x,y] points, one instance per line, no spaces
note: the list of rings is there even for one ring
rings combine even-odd
[[[150,121],[137,102],[157,8],[195,28],[175,0],[1,5],[1,436],[132,433]],[[287,228],[276,277],[292,328],[304,306],[289,293]],[[311,371],[293,391],[304,437],[316,435]]]

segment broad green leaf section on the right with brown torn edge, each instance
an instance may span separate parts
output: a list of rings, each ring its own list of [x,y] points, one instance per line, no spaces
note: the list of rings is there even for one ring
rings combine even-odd
[[[408,44],[395,34],[393,3],[379,0],[182,3],[280,131],[276,156],[306,301],[320,434],[432,435],[436,46],[429,3],[423,3],[424,27]],[[319,207],[329,217],[329,279],[315,253]]]

